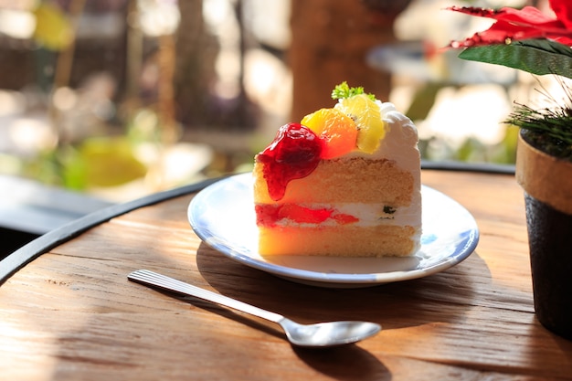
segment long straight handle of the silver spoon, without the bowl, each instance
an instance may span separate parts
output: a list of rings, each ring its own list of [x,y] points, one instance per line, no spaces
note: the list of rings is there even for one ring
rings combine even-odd
[[[262,310],[259,307],[237,301],[236,299],[228,298],[227,296],[219,293],[201,289],[200,287],[193,286],[192,284],[185,283],[184,281],[175,280],[150,270],[132,271],[132,273],[127,276],[127,279],[146,286],[154,286],[166,291],[175,291],[181,294],[195,296],[196,298],[200,298],[208,302],[214,302],[234,310],[247,312],[273,323],[280,323],[284,320],[284,317],[281,314]]]

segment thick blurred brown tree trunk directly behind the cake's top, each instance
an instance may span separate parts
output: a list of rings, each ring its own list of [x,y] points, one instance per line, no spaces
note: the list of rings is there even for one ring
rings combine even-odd
[[[291,120],[330,107],[344,80],[386,101],[389,73],[369,68],[367,52],[395,42],[393,22],[409,0],[291,0]]]

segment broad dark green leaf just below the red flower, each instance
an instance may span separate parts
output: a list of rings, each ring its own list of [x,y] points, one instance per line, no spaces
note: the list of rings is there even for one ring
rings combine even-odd
[[[547,39],[467,48],[459,58],[503,65],[535,75],[557,74],[572,79],[572,49]]]

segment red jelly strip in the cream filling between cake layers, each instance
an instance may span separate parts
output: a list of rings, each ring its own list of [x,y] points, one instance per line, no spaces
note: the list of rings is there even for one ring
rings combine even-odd
[[[320,224],[332,218],[340,225],[357,222],[358,219],[344,213],[336,213],[334,209],[318,208],[312,209],[296,204],[282,205],[257,205],[256,223],[263,227],[272,227],[281,219],[289,219],[299,224]]]

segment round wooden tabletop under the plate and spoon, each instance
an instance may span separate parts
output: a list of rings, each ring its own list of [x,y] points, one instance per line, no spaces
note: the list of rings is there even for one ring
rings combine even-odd
[[[371,288],[305,286],[209,249],[186,219],[202,185],[48,233],[0,262],[0,378],[572,380],[572,342],[535,319],[514,176],[424,170],[422,177],[471,211],[480,243],[449,270]],[[36,259],[18,264],[28,257]],[[137,269],[301,322],[369,320],[384,330],[359,344],[302,350],[270,323],[128,281]]]

